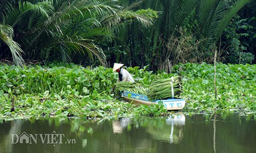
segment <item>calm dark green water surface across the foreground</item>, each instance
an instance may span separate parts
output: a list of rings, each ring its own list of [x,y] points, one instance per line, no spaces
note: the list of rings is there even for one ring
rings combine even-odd
[[[253,115],[0,121],[0,152],[256,152]]]

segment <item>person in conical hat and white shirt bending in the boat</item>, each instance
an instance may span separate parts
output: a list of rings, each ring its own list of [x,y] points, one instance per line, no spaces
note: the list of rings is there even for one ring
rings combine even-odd
[[[119,81],[135,82],[132,75],[123,67],[123,64],[114,63],[113,72],[118,72]]]

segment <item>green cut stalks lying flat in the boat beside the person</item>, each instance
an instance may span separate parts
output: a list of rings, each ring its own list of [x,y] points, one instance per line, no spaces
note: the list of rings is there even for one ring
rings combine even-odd
[[[118,82],[116,83],[115,90],[118,91],[129,91],[137,94],[146,94],[146,88],[143,87],[140,83],[132,83],[132,82]]]

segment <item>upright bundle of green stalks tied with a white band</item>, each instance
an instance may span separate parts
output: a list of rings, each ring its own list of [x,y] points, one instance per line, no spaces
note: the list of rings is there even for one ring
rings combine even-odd
[[[182,80],[178,75],[168,79],[160,79],[152,83],[148,88],[149,99],[179,98],[182,92]]]

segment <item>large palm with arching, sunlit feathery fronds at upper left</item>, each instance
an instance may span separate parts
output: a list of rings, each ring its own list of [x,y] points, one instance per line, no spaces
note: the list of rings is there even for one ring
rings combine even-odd
[[[116,12],[116,8],[97,1],[42,1],[19,3],[20,18],[16,21],[16,37],[27,58],[46,58],[67,62],[72,54],[87,53],[106,65],[105,56],[93,40],[99,35],[111,35],[100,27],[99,15]],[[11,15],[8,15],[12,17]],[[13,15],[14,17],[15,15]],[[39,55],[39,56],[38,56]],[[43,59],[44,60],[44,59]]]

